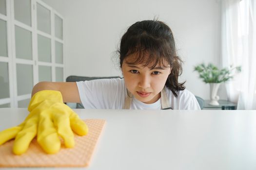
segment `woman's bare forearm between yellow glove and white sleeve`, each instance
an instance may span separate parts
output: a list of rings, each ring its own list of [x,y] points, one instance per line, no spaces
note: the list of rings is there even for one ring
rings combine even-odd
[[[56,90],[62,94],[63,102],[81,102],[75,82],[39,82],[33,87],[32,96],[41,90]]]

